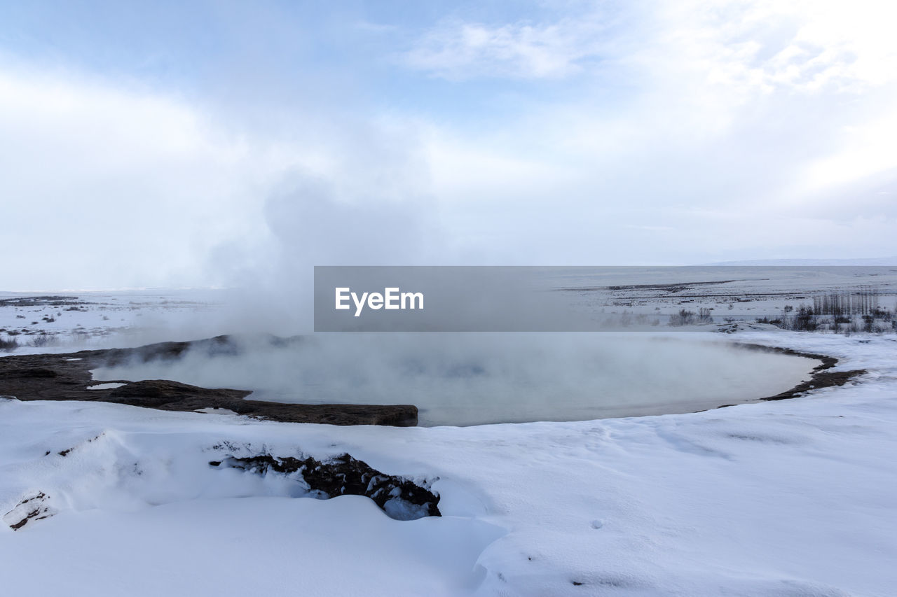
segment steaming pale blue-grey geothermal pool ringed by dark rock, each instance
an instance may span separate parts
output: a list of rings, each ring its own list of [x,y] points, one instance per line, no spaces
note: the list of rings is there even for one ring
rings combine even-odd
[[[422,426],[700,411],[784,392],[819,362],[718,334],[319,334],[242,339],[237,354],[93,371],[172,379],[274,402],[415,404]]]

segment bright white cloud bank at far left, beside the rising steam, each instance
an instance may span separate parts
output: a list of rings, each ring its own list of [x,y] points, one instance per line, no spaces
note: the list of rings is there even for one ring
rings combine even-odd
[[[259,186],[286,163],[179,99],[0,69],[4,286],[215,283],[205,254],[263,237]]]

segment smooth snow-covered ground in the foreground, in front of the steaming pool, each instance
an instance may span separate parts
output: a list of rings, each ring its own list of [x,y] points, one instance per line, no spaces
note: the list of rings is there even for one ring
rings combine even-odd
[[[893,595],[897,337],[728,337],[868,373],[694,414],[468,428],[0,401],[4,593]],[[442,516],[208,464],[344,452],[429,483]]]

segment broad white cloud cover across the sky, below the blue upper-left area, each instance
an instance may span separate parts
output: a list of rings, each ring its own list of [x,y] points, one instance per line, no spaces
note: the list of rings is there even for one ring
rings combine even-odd
[[[311,114],[291,88],[253,128],[242,105],[231,122],[177,95],[0,64],[4,238],[19,255],[4,285],[203,284],[262,264],[298,276],[309,260],[399,263],[405,247],[406,263],[890,255],[893,8],[854,6],[625,4],[613,22],[595,10],[424,32],[403,69],[496,102],[482,78],[533,80],[494,120],[463,100],[410,117],[431,91],[414,96],[416,81],[388,116],[364,92]]]

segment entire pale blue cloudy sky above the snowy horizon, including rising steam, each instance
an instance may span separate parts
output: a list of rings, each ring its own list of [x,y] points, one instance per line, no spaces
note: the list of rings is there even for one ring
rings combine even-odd
[[[888,2],[0,5],[0,290],[897,255]]]

